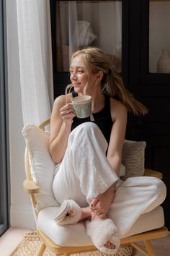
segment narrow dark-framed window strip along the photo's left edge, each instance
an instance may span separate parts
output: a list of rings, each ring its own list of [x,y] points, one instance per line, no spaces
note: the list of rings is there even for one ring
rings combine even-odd
[[[6,108],[4,72],[4,1],[0,4],[0,236],[8,229]]]

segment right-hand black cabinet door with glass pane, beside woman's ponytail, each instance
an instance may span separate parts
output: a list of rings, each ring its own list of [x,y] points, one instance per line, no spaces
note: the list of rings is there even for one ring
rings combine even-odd
[[[170,226],[170,1],[130,1],[129,9],[128,87],[149,112],[130,116],[127,136],[146,140],[146,167],[163,173],[168,189],[163,206]]]

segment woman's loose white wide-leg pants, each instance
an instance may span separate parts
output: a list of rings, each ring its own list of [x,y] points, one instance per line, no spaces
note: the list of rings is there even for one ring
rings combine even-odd
[[[160,205],[166,186],[160,179],[140,176],[122,182],[106,158],[107,141],[96,124],[86,122],[73,129],[63,161],[53,181],[55,199],[73,199],[81,207],[117,181],[115,199],[108,212],[120,234],[125,234],[140,214]]]

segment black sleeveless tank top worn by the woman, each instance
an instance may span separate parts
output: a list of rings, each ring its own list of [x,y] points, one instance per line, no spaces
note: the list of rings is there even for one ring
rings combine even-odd
[[[72,92],[73,98],[78,96],[77,93],[74,91]],[[110,99],[108,95],[105,95],[105,102],[104,102],[104,108],[102,108],[101,111],[97,113],[93,113],[94,116],[94,123],[98,125],[99,129],[101,129],[105,139],[107,140],[109,144],[109,137],[112,129],[112,117],[110,114]],[[71,126],[71,130],[76,128],[79,124],[82,124],[86,121],[91,121],[90,117],[87,118],[77,118],[76,116],[73,118],[73,124]]]

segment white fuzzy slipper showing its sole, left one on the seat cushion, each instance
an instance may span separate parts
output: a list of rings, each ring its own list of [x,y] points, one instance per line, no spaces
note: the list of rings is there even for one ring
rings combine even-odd
[[[72,214],[68,214],[68,210],[72,210]],[[55,221],[59,225],[75,224],[81,218],[81,208],[74,200],[64,200],[58,210]]]

